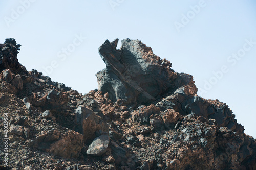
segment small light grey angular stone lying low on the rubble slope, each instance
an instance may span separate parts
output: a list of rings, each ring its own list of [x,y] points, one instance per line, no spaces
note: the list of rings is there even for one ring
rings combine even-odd
[[[101,135],[93,140],[86,153],[92,156],[101,156],[106,152],[109,142],[110,138],[108,135]]]

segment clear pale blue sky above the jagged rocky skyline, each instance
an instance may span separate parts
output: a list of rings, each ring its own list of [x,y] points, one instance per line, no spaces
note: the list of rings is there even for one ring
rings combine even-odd
[[[13,37],[22,44],[18,59],[27,70],[84,94],[98,87],[95,74],[105,67],[98,47],[106,39],[139,39],[175,71],[193,75],[205,90],[201,96],[227,103],[245,133],[256,137],[255,9],[256,3],[246,0],[1,1],[0,40]],[[178,22],[183,26],[177,30]],[[86,39],[78,41],[79,35]],[[232,53],[242,57],[229,57]],[[55,68],[47,74],[44,68],[52,62]],[[222,66],[228,71],[218,79],[212,72]]]

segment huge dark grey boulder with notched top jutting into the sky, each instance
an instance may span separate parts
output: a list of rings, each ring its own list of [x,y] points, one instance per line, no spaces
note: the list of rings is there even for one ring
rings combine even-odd
[[[96,74],[99,90],[108,93],[112,101],[123,99],[126,104],[144,104],[159,95],[194,84],[193,77],[178,74],[170,67],[172,63],[156,56],[151,47],[139,40],[106,40],[99,47],[99,54],[106,68]]]

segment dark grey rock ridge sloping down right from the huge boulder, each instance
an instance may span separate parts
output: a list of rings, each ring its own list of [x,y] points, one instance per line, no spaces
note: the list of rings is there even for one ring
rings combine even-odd
[[[215,124],[218,127],[228,127],[238,133],[244,131],[244,128],[241,124],[237,123],[234,115],[232,115],[232,111],[225,103],[218,100],[206,100],[193,95],[195,90],[191,91],[189,88],[193,87],[184,86],[177,89],[172,95],[167,96],[156,105],[165,109],[172,108],[182,115],[193,114],[194,116],[202,116],[206,119],[215,119]],[[208,122],[208,120],[203,118],[199,118],[198,120]]]

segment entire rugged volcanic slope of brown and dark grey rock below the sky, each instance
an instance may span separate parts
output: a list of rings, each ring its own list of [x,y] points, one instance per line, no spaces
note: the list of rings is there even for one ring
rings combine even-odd
[[[0,169],[256,169],[256,141],[225,103],[141,41],[117,41],[99,48],[107,67],[85,95],[27,71],[14,39],[0,44]]]

